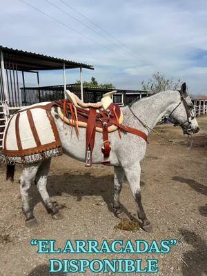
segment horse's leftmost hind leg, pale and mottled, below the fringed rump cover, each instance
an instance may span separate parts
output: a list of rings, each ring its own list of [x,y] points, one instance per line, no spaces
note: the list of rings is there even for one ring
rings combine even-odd
[[[36,164],[26,164],[23,166],[23,171],[19,179],[20,183],[20,192],[22,200],[22,210],[24,215],[26,215],[26,226],[35,227],[38,226],[37,220],[33,215],[33,207],[29,201],[28,191],[32,182],[34,182],[37,170],[41,162]]]

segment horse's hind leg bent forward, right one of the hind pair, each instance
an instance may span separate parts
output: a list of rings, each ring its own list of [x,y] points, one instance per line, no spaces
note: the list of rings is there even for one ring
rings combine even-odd
[[[46,207],[48,213],[52,215],[53,219],[61,219],[61,213],[52,203],[52,200],[50,199],[46,188],[48,174],[50,172],[50,162],[51,159],[46,159],[42,161],[41,166],[39,167],[39,170],[37,172],[35,181],[37,183],[37,189],[39,190],[41,198],[43,199],[43,204]]]

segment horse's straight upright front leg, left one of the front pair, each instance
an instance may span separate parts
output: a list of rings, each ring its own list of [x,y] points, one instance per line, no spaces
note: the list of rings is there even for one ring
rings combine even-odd
[[[113,201],[113,209],[116,216],[121,213],[119,195],[121,192],[122,182],[124,179],[124,169],[122,167],[114,167],[115,168],[115,177],[114,177],[114,201]]]

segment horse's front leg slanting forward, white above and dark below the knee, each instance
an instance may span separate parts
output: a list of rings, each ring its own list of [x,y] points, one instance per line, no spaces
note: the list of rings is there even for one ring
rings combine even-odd
[[[135,198],[135,201],[137,204],[137,214],[139,219],[141,219],[142,221],[141,227],[147,232],[152,232],[152,225],[150,224],[150,221],[148,221],[146,214],[144,212],[144,208],[141,204],[141,189],[140,189],[141,168],[140,168],[139,162],[133,164],[130,167],[124,168],[124,172],[130,184],[132,195]]]

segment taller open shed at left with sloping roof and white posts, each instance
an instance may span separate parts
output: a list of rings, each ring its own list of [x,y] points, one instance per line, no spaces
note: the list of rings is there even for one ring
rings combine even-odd
[[[37,75],[37,90],[39,95],[39,71],[63,70],[63,95],[66,90],[66,69],[80,70],[80,94],[83,99],[82,69],[93,70],[93,66],[33,52],[26,52],[0,46],[0,148],[3,131],[10,114],[25,105],[25,72]],[[21,89],[20,86],[23,86]],[[40,97],[40,95],[39,95]]]

